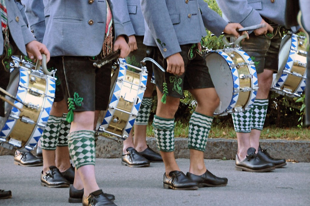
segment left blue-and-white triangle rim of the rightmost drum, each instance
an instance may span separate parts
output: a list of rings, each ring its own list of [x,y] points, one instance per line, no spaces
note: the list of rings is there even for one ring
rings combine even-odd
[[[293,67],[294,60],[296,57],[296,50],[298,49],[298,36],[296,34],[291,35],[291,47],[290,48],[291,48],[290,54],[287,58],[286,65],[284,68],[285,70],[288,70],[289,72],[291,71]],[[276,82],[275,87],[282,87],[287,77],[288,77],[288,74],[283,72],[279,80]]]

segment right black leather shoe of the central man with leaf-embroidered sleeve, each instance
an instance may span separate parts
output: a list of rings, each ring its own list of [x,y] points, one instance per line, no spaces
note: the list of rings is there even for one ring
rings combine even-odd
[[[216,177],[208,170],[203,175],[194,175],[187,172],[186,176],[191,181],[197,182],[199,187],[222,187],[226,186],[228,182],[227,178]]]

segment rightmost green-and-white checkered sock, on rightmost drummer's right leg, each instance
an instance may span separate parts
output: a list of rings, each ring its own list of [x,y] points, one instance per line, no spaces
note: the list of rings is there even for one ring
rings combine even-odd
[[[253,104],[251,129],[263,130],[268,102],[268,99],[255,99]]]

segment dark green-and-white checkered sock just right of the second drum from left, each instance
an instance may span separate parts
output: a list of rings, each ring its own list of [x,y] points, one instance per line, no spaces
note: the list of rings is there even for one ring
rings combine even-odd
[[[152,98],[143,97],[141,106],[138,112],[138,116],[135,119],[135,124],[148,125],[148,119],[150,117],[151,107],[152,107]]]

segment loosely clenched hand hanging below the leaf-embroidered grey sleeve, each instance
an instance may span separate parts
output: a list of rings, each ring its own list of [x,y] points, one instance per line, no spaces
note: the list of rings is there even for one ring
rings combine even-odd
[[[180,53],[167,57],[167,72],[182,75],[184,73],[184,61]]]

